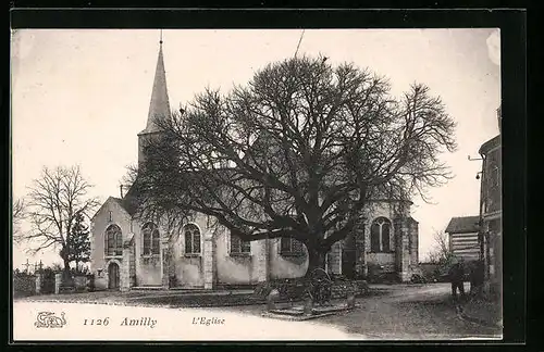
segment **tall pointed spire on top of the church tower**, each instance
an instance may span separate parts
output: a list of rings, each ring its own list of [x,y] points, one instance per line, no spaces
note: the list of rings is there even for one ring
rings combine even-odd
[[[160,118],[170,116],[170,101],[166,89],[166,73],[164,71],[164,58],[162,54],[162,40],[159,48],[159,58],[157,59],[157,68],[154,71],[153,90],[151,91],[151,102],[147,115],[147,126],[140,134],[151,134],[159,131],[157,122]]]

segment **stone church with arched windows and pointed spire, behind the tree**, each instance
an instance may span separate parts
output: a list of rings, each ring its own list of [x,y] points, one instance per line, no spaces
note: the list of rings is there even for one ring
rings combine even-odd
[[[138,162],[145,161],[146,139],[160,134],[157,116],[170,114],[161,40],[147,125],[137,136]],[[252,287],[306,274],[306,247],[294,239],[242,241],[201,214],[178,235],[165,236],[163,224],[135,216],[129,197],[131,190],[122,198],[108,198],[91,218],[90,267],[97,289]],[[410,205],[371,202],[364,225],[332,247],[326,271],[360,276],[372,266],[408,281],[418,266],[418,223],[410,216]]]

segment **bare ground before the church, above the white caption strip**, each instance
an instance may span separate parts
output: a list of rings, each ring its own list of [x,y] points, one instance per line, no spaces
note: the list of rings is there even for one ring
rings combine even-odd
[[[326,316],[309,322],[277,322],[277,324],[288,323],[288,326],[295,324],[301,329],[309,328],[313,324],[313,326],[319,326],[323,329],[332,329],[323,330],[329,331],[324,334],[333,334],[332,331],[342,331],[342,334],[345,334],[344,338],[346,338],[347,336],[350,338],[380,340],[443,340],[477,337],[497,338],[502,334],[500,328],[487,327],[465,319],[459,311],[456,310],[456,304],[450,298],[450,289],[448,284],[374,285],[371,286],[371,290],[373,292],[372,294],[370,294],[369,297],[359,298],[357,300],[357,303],[360,305],[360,307],[351,312]],[[208,296],[208,300],[206,302],[220,301],[222,303],[233,302],[233,304],[248,303],[248,292],[238,293],[239,294],[235,294],[233,292],[222,292],[219,297]],[[29,303],[34,301],[34,303],[38,303],[40,301],[44,302],[48,300],[55,300],[58,302],[97,302],[138,306],[147,305],[154,307],[168,306],[170,311],[172,311],[172,309],[174,307],[180,309],[182,306],[187,306],[185,304],[187,302],[188,305],[194,305],[197,298],[198,296],[172,291],[128,293],[116,292],[113,294],[112,292],[92,292],[26,298],[16,300],[15,302]],[[200,307],[193,309],[190,310],[190,312],[196,312],[191,313],[193,315],[197,314],[201,316],[221,316],[223,314],[236,314],[237,318],[240,319],[248,318],[255,319],[255,322],[271,322],[270,319],[264,319],[260,316],[263,310],[263,304],[252,304],[221,307]],[[244,325],[247,326],[246,324]],[[287,327],[287,325],[285,325],[285,327]],[[286,328],[282,334],[288,335],[289,332],[287,330],[289,330],[289,328]],[[311,330],[311,328],[309,330]],[[262,328],[260,328],[259,331],[260,332],[255,334],[264,334],[262,332]],[[277,331],[272,332],[275,334]],[[334,332],[333,335],[336,336],[336,332]],[[246,336],[246,338],[252,337],[252,335]]]

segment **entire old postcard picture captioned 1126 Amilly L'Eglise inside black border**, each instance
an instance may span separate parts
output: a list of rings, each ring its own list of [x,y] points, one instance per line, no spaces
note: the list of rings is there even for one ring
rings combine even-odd
[[[12,29],[13,340],[500,340],[500,35]]]

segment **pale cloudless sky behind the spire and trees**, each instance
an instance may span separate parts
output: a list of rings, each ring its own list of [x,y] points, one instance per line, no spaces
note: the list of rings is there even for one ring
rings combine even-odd
[[[13,197],[23,198],[44,166],[79,165],[89,196],[120,196],[126,166],[137,161],[159,50],[159,29],[17,29],[11,40]],[[173,110],[195,93],[247,83],[268,63],[294,55],[299,29],[168,29],[163,53]],[[353,62],[386,76],[400,96],[417,81],[440,96],[457,122],[459,144],[442,159],[455,178],[413,199],[420,261],[433,234],[453,216],[478,215],[480,146],[498,134],[500,39],[497,28],[307,29],[298,52]],[[25,229],[27,224],[23,224]],[[53,251],[13,265],[60,263]]]

